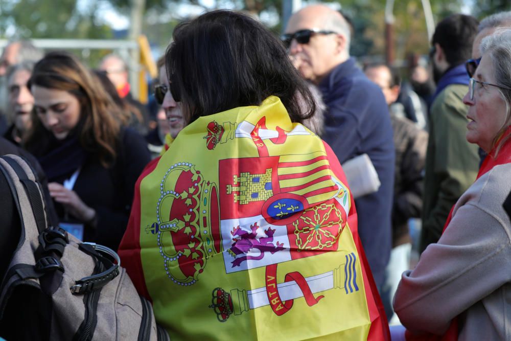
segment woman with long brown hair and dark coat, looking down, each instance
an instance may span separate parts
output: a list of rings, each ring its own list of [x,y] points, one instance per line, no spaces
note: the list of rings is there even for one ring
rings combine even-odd
[[[117,249],[135,180],[150,161],[144,139],[73,55],[52,52],[34,67],[33,129],[25,143],[47,174],[61,226]]]

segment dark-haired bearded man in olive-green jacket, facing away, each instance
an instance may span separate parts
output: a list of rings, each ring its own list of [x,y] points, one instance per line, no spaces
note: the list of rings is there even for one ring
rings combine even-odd
[[[431,41],[437,88],[429,113],[420,252],[438,241],[451,208],[477,175],[477,146],[465,138],[468,107],[462,102],[469,85],[464,62],[477,25],[472,16],[451,15],[438,23]]]

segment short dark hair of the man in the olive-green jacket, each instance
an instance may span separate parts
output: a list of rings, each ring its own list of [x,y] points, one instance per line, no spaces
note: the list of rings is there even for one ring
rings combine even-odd
[[[448,16],[436,25],[431,44],[442,47],[451,66],[462,64],[471,57],[478,25],[477,19],[470,15]]]

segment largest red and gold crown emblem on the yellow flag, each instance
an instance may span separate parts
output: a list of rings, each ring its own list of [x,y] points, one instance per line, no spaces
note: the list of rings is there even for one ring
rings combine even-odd
[[[190,163],[176,163],[160,183],[156,235],[167,276],[181,286],[193,285],[206,260],[221,252],[217,187]]]

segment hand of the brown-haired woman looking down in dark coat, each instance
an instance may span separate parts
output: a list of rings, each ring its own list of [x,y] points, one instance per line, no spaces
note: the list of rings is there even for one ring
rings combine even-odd
[[[96,211],[88,207],[75,191],[68,190],[58,183],[48,184],[48,189],[51,197],[60,202],[69,214],[84,222],[94,219]]]

